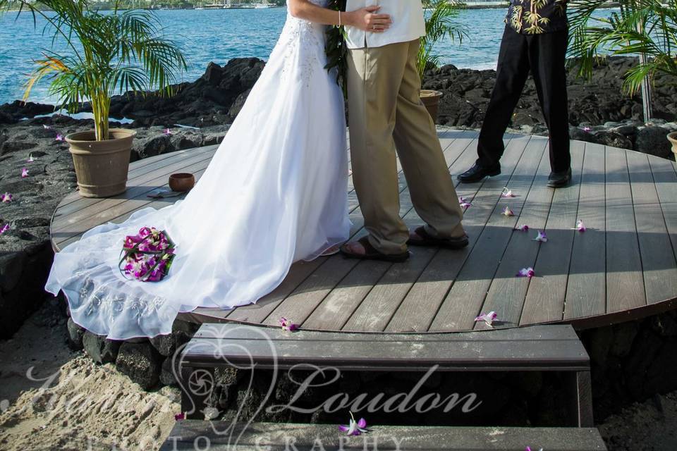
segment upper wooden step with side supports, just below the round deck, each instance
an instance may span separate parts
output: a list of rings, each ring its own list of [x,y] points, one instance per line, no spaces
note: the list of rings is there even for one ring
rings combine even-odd
[[[592,426],[590,357],[568,325],[468,333],[346,333],[203,324],[181,351],[182,411],[202,419],[205,371],[219,366],[339,371],[560,371],[566,373],[571,426]],[[190,390],[191,381],[199,390]],[[197,385],[196,385],[197,384]],[[196,393],[197,392],[197,393]]]

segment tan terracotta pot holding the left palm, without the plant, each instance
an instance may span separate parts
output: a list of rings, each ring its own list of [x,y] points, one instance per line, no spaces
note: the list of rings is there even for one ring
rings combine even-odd
[[[105,141],[95,140],[93,130],[66,136],[71,144],[81,196],[109,197],[127,190],[129,156],[135,135],[134,130],[111,128],[111,139]]]

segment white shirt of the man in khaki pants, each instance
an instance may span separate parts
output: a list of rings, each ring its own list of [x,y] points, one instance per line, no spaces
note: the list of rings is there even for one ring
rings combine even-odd
[[[382,33],[364,32],[346,27],[348,49],[383,47],[396,42],[409,42],[425,36],[425,18],[421,0],[348,0],[346,11],[366,6],[381,6],[377,14],[390,14],[393,23]]]

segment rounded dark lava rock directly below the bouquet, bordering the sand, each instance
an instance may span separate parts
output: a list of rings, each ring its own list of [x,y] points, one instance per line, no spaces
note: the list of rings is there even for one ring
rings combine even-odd
[[[162,359],[150,342],[123,342],[115,361],[116,368],[148,390],[160,380]]]

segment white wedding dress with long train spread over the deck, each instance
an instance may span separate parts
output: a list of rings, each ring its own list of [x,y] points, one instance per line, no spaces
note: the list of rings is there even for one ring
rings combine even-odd
[[[171,333],[179,312],[256,302],[294,261],[348,239],[343,95],[324,69],[324,31],[288,14],[245,106],[183,201],[93,228],[56,254],[45,288],[63,290],[75,323],[114,340]],[[124,237],[143,226],[176,243],[157,283],[118,270]]]

